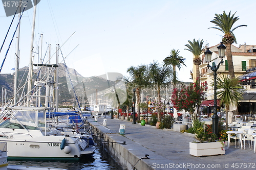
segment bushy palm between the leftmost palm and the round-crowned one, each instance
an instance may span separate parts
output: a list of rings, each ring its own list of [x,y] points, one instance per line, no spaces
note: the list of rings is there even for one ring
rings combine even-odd
[[[148,78],[150,83],[157,91],[157,102],[160,103],[160,90],[170,83],[172,79],[173,70],[171,67],[159,65],[157,61],[153,61],[148,67]],[[161,121],[161,112],[157,111],[158,122]]]

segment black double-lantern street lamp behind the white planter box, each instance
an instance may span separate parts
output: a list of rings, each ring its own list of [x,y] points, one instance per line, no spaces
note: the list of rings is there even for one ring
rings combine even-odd
[[[210,66],[211,62],[211,54],[212,52],[209,51],[209,48],[204,52],[205,55],[205,61],[207,63],[207,67],[210,68],[212,71],[214,71],[214,115],[211,117],[212,118],[212,132],[218,137],[218,124],[219,124],[219,116],[217,114],[217,83],[216,83],[216,78],[217,78],[217,70],[220,68],[220,64],[223,64],[223,58],[225,57],[225,50],[226,46],[221,42],[219,46],[217,46],[218,51],[219,51],[219,58],[221,59],[220,63],[216,66],[216,64],[213,64]]]

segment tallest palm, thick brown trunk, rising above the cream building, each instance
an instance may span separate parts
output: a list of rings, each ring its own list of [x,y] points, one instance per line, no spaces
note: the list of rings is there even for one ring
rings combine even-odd
[[[225,11],[223,11],[223,14],[215,14],[216,17],[214,17],[214,20],[211,20],[210,22],[215,23],[215,25],[217,26],[217,27],[211,27],[211,28],[220,30],[224,34],[222,41],[227,46],[226,56],[227,56],[227,62],[228,62],[228,74],[231,76],[231,78],[234,78],[234,67],[233,67],[233,59],[232,59],[232,53],[231,53],[231,44],[233,42],[237,43],[237,40],[233,34],[233,31],[239,27],[247,27],[247,25],[240,25],[232,29],[234,22],[238,21],[239,18],[238,16],[234,17],[234,14],[236,14],[236,12],[232,15],[230,13],[231,11],[229,11],[229,14],[227,15]]]

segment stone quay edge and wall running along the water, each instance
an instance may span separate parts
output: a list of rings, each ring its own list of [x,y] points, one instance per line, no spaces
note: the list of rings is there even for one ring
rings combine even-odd
[[[150,159],[141,159],[144,158],[146,154],[150,155],[152,158],[155,155],[154,153],[144,148],[141,144],[126,138],[125,134],[120,135],[118,132],[112,131],[97,123],[91,122],[90,124],[92,126],[93,134],[97,136],[98,140],[106,141],[103,142],[103,147],[108,149],[109,153],[113,156],[116,162],[123,167],[123,169],[131,169],[134,165],[134,169],[155,169],[152,167]],[[126,144],[122,144],[124,141]]]

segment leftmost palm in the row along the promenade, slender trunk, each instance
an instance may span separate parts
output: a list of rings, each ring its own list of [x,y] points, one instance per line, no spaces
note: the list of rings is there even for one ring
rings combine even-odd
[[[131,84],[136,88],[136,94],[137,94],[137,112],[138,112],[138,118],[140,116],[140,92],[141,88],[146,85],[146,72],[147,72],[147,66],[146,65],[139,65],[138,67],[131,66],[127,69],[127,72],[129,72],[131,77]]]

